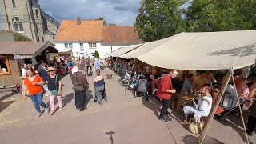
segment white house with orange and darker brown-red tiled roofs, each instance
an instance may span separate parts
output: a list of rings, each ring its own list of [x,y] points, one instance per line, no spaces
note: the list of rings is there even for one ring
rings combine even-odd
[[[142,43],[134,26],[104,26],[103,21],[62,21],[54,44],[60,52],[72,50],[74,57],[101,58],[120,47]]]

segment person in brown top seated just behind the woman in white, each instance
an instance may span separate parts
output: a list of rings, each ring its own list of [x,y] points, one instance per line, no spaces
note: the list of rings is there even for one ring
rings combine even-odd
[[[197,94],[200,86],[206,85],[206,84],[208,84],[208,81],[206,79],[206,72],[200,71],[200,75],[194,78],[194,93]]]

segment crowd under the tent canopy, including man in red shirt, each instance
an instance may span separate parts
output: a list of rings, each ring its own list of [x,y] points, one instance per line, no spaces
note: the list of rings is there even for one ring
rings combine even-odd
[[[122,58],[110,58],[108,65],[121,78],[126,73],[133,76],[134,74],[143,74],[147,77],[150,83],[150,93],[156,94],[162,102],[162,110],[159,115],[159,120],[168,122],[165,118],[170,107],[170,98],[175,93],[194,94],[196,100],[192,100],[191,106],[183,106],[184,121],[181,124],[188,124],[188,114],[194,114],[194,122],[198,125],[202,117],[207,117],[218,96],[219,89],[222,85],[224,71],[222,74],[217,74],[217,70],[167,70],[156,66],[150,66],[138,60],[129,60]],[[251,86],[246,83],[246,78],[243,77],[242,69],[234,70],[234,84],[238,91],[238,104],[249,106],[251,98],[256,94],[256,82]],[[233,84],[233,85],[234,85]],[[250,83],[251,84],[251,83]],[[156,91],[156,93],[154,93]],[[234,97],[235,98],[235,97]],[[253,104],[252,104],[253,103]],[[256,124],[256,101],[252,102],[250,107],[250,115],[247,122],[247,134],[252,134]],[[224,112],[222,106],[218,106],[216,114]],[[199,126],[200,127],[200,126]]]

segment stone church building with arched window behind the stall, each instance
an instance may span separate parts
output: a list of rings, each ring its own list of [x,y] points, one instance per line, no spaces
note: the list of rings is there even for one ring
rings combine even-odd
[[[42,11],[38,0],[1,0],[0,13],[3,30],[24,34],[34,42],[54,42],[59,23]]]

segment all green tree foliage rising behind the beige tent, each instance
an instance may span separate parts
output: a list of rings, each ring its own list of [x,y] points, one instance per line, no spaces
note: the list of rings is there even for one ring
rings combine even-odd
[[[187,9],[181,8],[184,3]],[[170,37],[182,31],[256,29],[256,1],[142,0],[141,4],[134,26],[145,42]]]

